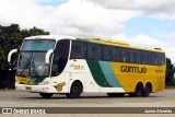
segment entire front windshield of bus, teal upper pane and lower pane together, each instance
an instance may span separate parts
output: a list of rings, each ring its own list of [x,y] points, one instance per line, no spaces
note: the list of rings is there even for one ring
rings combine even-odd
[[[24,40],[20,50],[16,74],[22,77],[48,77],[49,65],[45,63],[46,52],[52,49],[55,40]]]

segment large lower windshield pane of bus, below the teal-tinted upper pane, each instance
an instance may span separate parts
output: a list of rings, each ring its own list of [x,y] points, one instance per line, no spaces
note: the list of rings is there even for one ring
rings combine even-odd
[[[48,77],[49,65],[45,63],[46,52],[21,52],[18,63],[18,75]]]

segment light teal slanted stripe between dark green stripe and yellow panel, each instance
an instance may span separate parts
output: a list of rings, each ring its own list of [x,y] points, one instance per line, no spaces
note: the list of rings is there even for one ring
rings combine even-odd
[[[112,63],[108,61],[100,61],[102,71],[106,78],[106,81],[113,86],[113,87],[121,87],[121,85],[119,84],[115,72],[112,68]]]

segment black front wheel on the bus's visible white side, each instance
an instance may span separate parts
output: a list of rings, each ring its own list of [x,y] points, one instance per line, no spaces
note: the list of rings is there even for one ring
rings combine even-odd
[[[67,93],[68,98],[78,98],[82,93],[82,84],[78,81],[73,82],[70,89],[70,93]]]

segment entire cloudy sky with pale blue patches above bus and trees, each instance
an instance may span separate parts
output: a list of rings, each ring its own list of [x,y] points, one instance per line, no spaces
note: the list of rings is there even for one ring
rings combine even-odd
[[[175,0],[0,0],[0,25],[162,48],[175,63]]]

